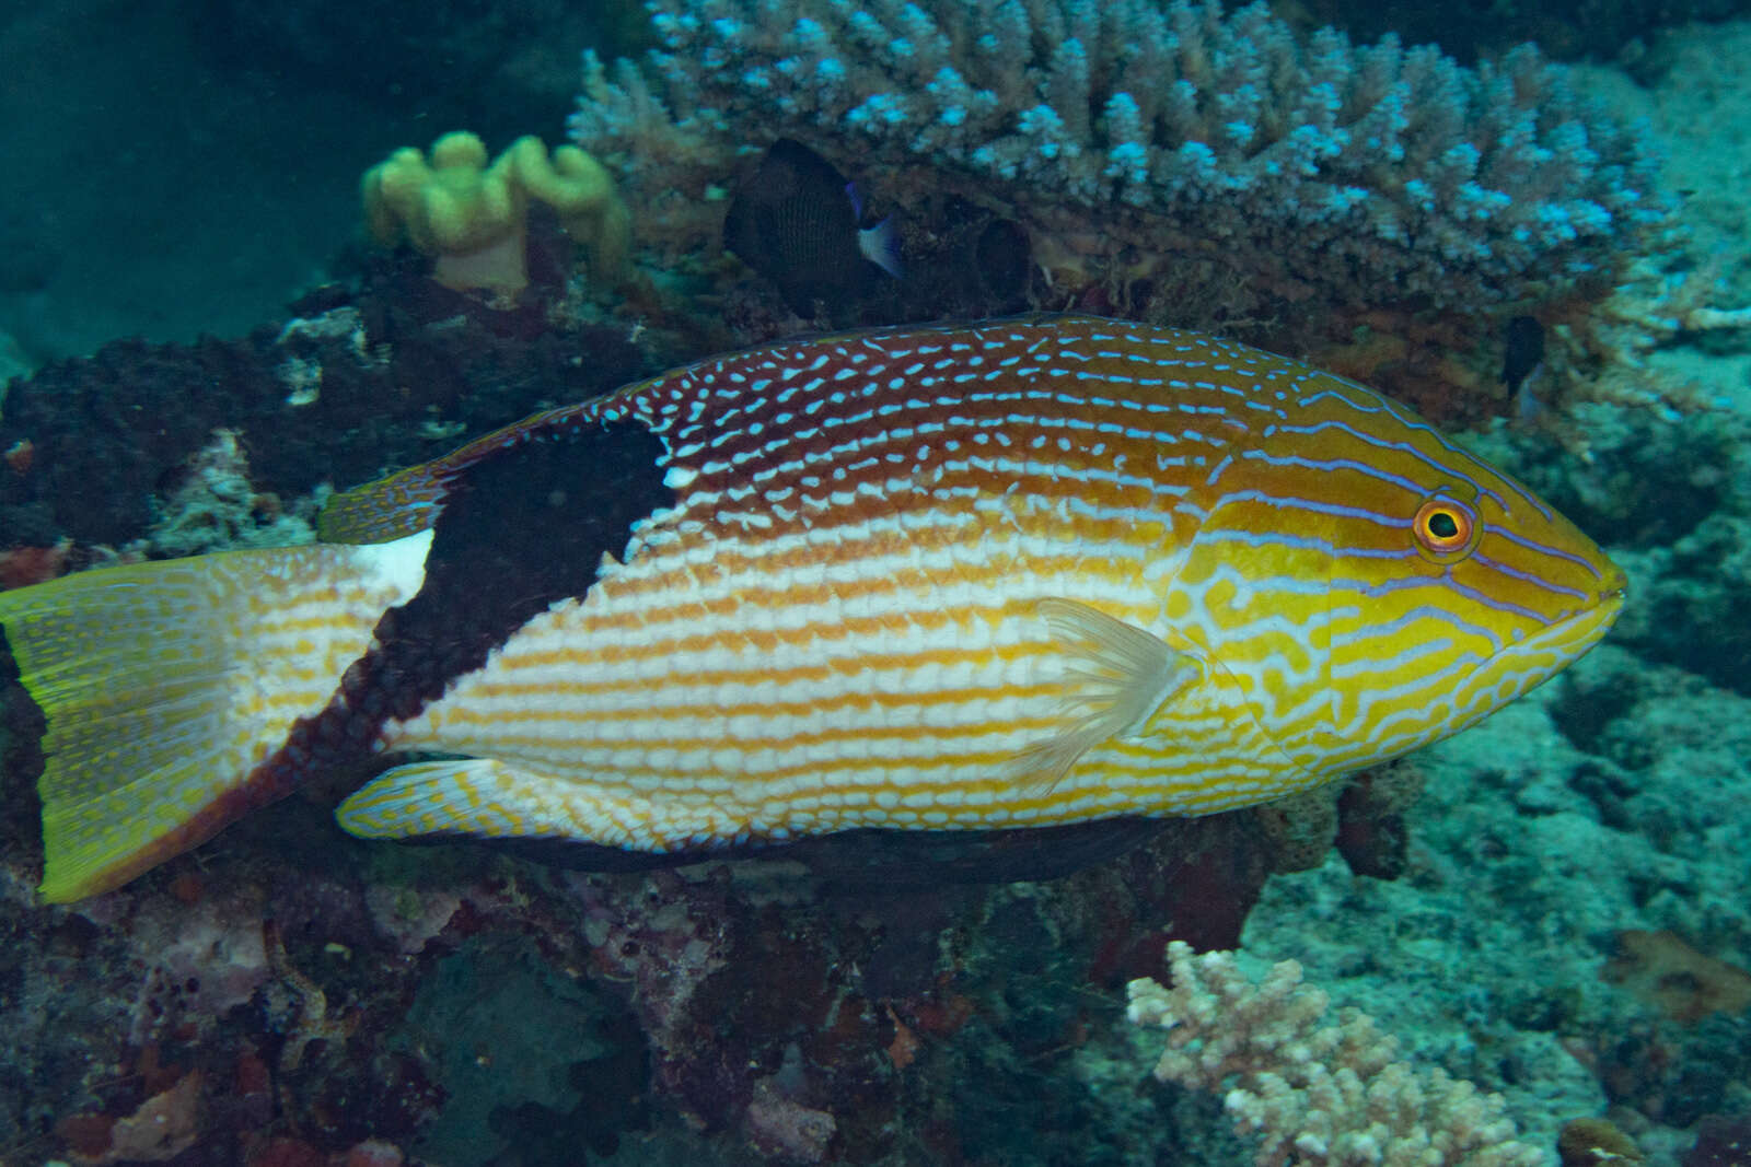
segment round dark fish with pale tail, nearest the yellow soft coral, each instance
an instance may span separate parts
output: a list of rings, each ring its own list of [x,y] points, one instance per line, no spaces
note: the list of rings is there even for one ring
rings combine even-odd
[[[798,317],[816,301],[840,308],[861,296],[881,268],[900,278],[891,219],[865,227],[854,184],[791,138],[779,138],[737,187],[723,220],[723,245],[777,283]]]

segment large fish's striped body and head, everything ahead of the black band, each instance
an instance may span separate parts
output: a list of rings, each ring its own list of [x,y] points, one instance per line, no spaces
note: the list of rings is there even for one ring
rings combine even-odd
[[[678,849],[1250,805],[1452,733],[1614,612],[1467,625],[1406,534],[1429,483],[1504,528],[1548,513],[1378,395],[1198,334],[825,338],[562,413],[646,423],[674,506],[387,730],[559,779],[529,833]],[[1516,546],[1516,581],[1590,570]],[[1553,621],[1557,649],[1509,660]]]

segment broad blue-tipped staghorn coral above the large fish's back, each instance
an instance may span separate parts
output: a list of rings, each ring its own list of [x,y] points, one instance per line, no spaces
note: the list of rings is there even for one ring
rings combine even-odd
[[[1663,222],[1642,142],[1530,47],[1466,70],[1392,37],[1299,44],[1262,3],[651,9],[664,49],[611,73],[587,56],[571,129],[678,252],[714,227],[735,150],[774,135],[856,156],[902,201],[1010,215],[1056,289],[1185,324],[1212,304],[1166,289],[1229,313],[1544,299],[1604,285]]]

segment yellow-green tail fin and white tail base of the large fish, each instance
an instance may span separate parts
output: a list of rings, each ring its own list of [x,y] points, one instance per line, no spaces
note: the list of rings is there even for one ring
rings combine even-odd
[[[229,551],[0,593],[47,717],[44,899],[126,884],[249,810],[250,770],[418,591],[429,542]]]

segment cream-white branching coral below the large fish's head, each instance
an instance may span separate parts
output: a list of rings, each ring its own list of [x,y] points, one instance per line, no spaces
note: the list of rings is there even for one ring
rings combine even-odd
[[[1171,989],[1149,978],[1126,987],[1131,1022],[1168,1031],[1156,1078],[1222,1094],[1236,1125],[1261,1137],[1261,1167],[1546,1162],[1515,1141],[1499,1097],[1397,1060],[1397,1041],[1359,1010],[1329,1024],[1329,997],[1301,983],[1294,961],[1255,983],[1234,954],[1194,955],[1173,941],[1168,966]]]

